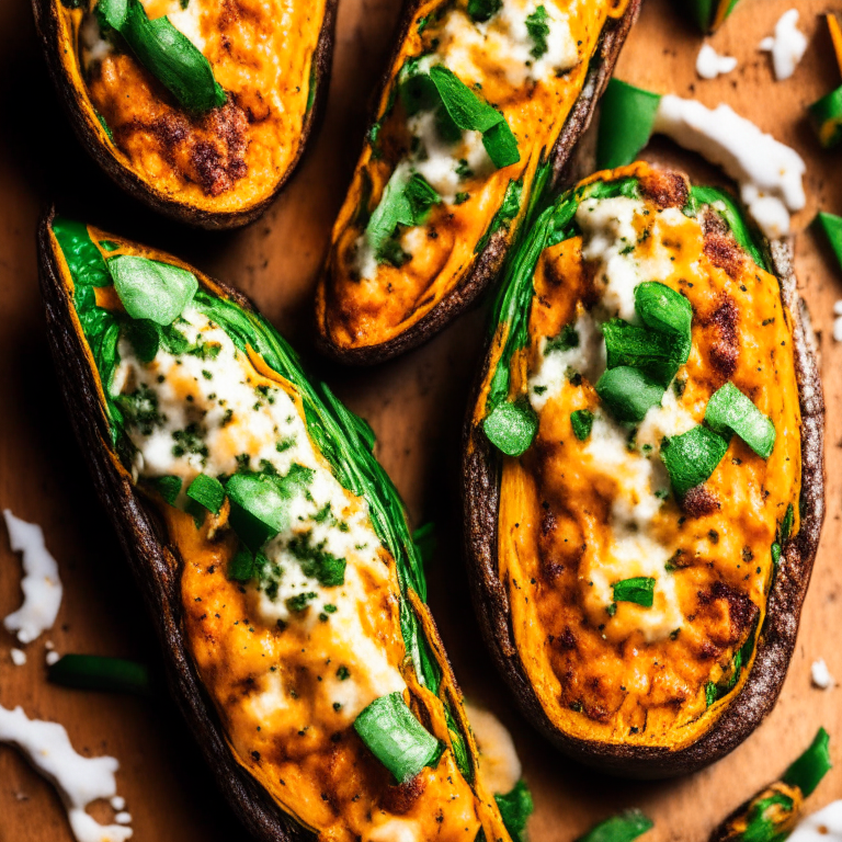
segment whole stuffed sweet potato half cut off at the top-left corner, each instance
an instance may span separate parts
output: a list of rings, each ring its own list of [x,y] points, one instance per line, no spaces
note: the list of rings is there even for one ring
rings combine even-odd
[[[203,228],[257,218],[325,101],[337,0],[33,0],[80,140],[156,210]]]

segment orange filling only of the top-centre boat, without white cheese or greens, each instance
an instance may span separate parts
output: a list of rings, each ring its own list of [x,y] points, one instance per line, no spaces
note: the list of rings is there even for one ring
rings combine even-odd
[[[502,204],[509,182],[521,180],[522,195],[528,196],[539,159],[549,152],[581,92],[605,21],[608,16],[619,16],[625,2],[559,0],[556,5],[566,15],[577,45],[577,62],[562,75],[550,73],[542,79],[520,76],[514,72],[517,68],[514,59],[492,54],[487,46],[491,44],[489,36],[476,36],[478,27],[466,14],[466,5],[458,2],[447,8],[448,3],[442,0],[422,3],[389,69],[391,81],[383,92],[377,112],[383,122],[377,151],[372,144],[366,144],[356,166],[333,226],[332,246],[317,293],[320,330],[339,348],[362,348],[395,338],[462,283],[476,263],[477,243]],[[505,7],[523,10],[526,3],[505,0]],[[442,10],[441,19],[436,20],[436,12]],[[430,23],[419,33],[422,20]],[[483,33],[492,32],[494,25],[492,19]],[[357,240],[364,229],[360,220],[361,206],[367,205],[371,210],[377,206],[386,183],[411,145],[407,115],[399,98],[390,113],[385,118],[383,115],[407,59],[430,53],[441,56],[463,82],[476,86],[481,96],[504,114],[517,139],[521,159],[510,167],[466,178],[458,191],[466,194],[467,200],[435,205],[424,226],[405,235],[405,244],[410,247],[407,251],[411,254],[408,262],[399,269],[380,263],[372,277],[361,278],[357,254]]]

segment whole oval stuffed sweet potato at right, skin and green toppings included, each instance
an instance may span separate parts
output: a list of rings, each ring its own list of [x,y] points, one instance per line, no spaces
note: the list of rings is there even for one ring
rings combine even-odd
[[[777,697],[823,503],[823,401],[785,242],[637,163],[538,216],[466,426],[475,602],[523,709],[637,776]]]

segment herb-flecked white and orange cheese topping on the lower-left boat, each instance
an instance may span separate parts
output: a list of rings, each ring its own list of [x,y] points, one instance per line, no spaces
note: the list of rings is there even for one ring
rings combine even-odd
[[[352,728],[366,705],[408,683],[395,562],[365,500],[314,447],[289,384],[266,376],[194,306],[172,329],[183,340],[178,353],[162,345],[150,363],[121,338],[110,390],[136,448],[135,479],[184,480],[161,510],[184,560],[191,652],[239,762],[322,839],[474,842],[477,803],[452,752],[395,786]],[[306,471],[306,480],[289,501],[288,528],[241,584],[226,577],[236,549],[228,502],[201,527],[182,510],[200,473],[249,468]],[[344,559],[342,584],[308,573],[318,554]]]

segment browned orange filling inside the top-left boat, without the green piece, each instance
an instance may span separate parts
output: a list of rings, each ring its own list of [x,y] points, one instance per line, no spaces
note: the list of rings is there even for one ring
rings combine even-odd
[[[143,2],[204,54],[228,103],[184,113],[118,39],[103,37],[92,11],[59,3],[61,39],[72,45],[66,71],[87,91],[92,124],[101,115],[113,135],[100,139],[178,202],[236,212],[268,198],[299,155],[326,0]]]

